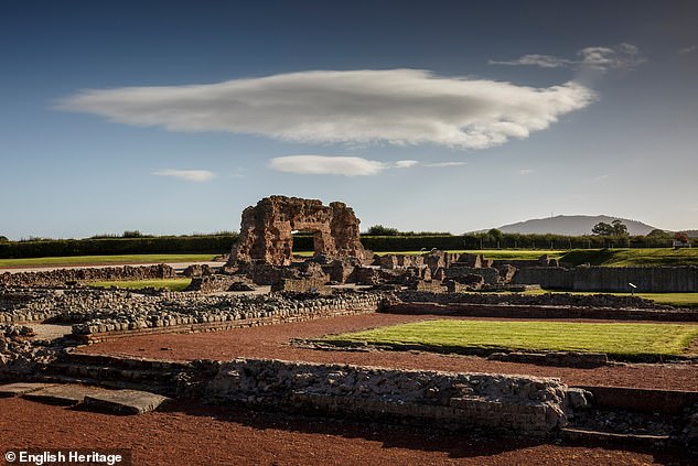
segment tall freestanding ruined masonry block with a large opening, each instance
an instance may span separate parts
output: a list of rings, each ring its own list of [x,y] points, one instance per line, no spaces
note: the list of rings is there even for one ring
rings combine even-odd
[[[316,199],[271,196],[243,212],[240,237],[230,264],[266,263],[290,265],[292,231],[313,234],[315,254],[362,260],[358,218],[343,203],[322,205]]]

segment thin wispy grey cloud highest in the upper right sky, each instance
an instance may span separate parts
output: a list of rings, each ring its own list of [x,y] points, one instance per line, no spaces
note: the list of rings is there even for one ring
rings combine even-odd
[[[491,59],[491,65],[540,66],[543,68],[591,68],[602,73],[609,69],[631,69],[646,62],[640,50],[622,43],[613,47],[586,47],[577,52],[577,59],[552,55],[528,54],[511,61]]]

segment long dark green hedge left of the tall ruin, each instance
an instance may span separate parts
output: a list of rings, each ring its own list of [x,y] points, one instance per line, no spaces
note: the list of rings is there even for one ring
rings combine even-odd
[[[51,239],[0,242],[0,258],[41,258],[99,254],[224,253],[236,235],[152,238]]]

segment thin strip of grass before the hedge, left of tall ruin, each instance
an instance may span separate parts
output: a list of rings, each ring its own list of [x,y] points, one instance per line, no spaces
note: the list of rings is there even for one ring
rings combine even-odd
[[[74,256],[62,258],[0,259],[0,267],[54,267],[98,265],[119,263],[162,263],[210,261],[215,254],[129,254],[129,256]]]

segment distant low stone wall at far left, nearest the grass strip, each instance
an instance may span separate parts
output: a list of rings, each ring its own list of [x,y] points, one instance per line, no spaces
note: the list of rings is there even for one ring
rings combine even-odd
[[[97,280],[170,279],[175,271],[170,265],[104,267],[86,269],[58,269],[37,272],[0,273],[0,284],[6,286],[63,286],[71,282]]]

